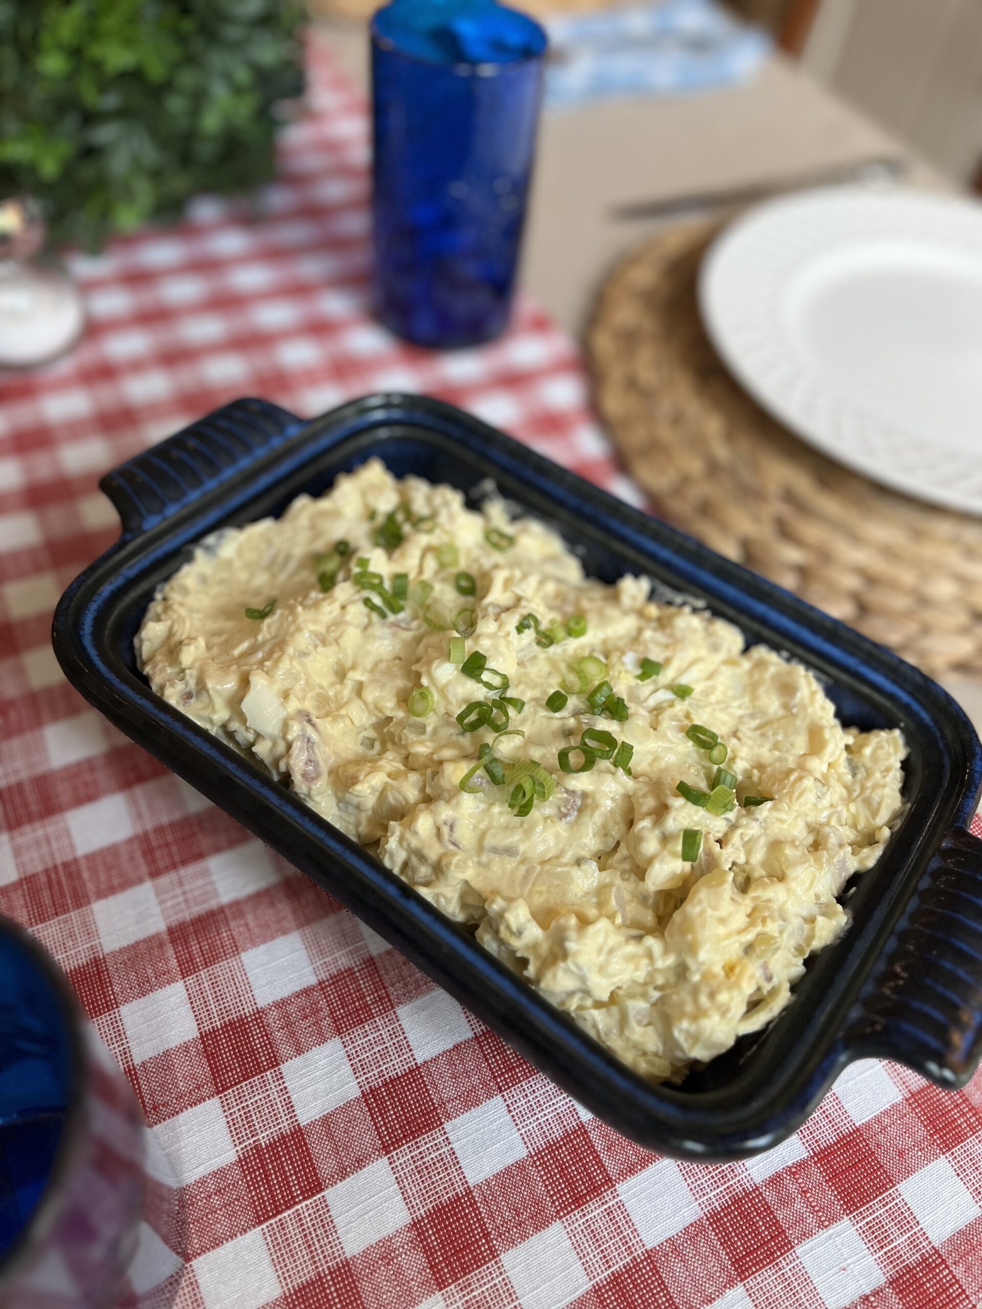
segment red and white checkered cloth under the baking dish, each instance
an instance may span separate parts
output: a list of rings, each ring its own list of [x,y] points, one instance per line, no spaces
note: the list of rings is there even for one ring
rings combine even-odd
[[[755,1160],[652,1156],[62,678],[52,606],[117,534],[97,475],[242,393],[429,391],[632,495],[534,306],[445,356],[371,321],[365,107],[312,73],[258,216],[200,202],[76,258],[85,340],[0,382],[0,910],[68,973],[179,1198],[127,1302],[169,1278],[179,1309],[978,1305],[982,1081],[867,1062]]]

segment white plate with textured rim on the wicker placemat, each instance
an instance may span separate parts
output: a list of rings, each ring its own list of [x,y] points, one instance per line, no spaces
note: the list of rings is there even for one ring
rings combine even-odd
[[[842,187],[770,200],[699,274],[738,381],[825,454],[982,514],[982,206]]]

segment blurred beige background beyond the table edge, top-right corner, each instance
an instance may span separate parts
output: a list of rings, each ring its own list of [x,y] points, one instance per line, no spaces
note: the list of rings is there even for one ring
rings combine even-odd
[[[982,0],[822,0],[803,63],[949,175],[982,164]]]

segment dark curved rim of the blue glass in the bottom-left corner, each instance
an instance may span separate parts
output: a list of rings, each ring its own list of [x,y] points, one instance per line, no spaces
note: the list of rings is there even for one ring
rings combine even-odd
[[[30,957],[31,963],[43,974],[51,987],[65,1025],[68,1037],[68,1101],[64,1107],[62,1139],[58,1143],[51,1169],[45,1179],[34,1212],[24,1224],[10,1245],[0,1254],[0,1301],[4,1283],[16,1276],[17,1267],[30,1258],[33,1247],[43,1241],[47,1229],[55,1219],[62,1183],[71,1174],[84,1141],[85,1089],[88,1075],[85,1067],[85,1047],[82,1043],[84,1016],[68,979],[58,967],[47,950],[26,928],[12,918],[0,914],[0,937],[12,937]]]

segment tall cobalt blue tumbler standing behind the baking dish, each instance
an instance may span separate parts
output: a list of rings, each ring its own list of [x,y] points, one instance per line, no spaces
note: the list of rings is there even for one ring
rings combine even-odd
[[[420,346],[508,322],[546,34],[491,0],[395,0],[372,22],[374,301]]]

